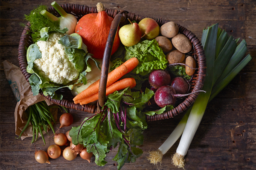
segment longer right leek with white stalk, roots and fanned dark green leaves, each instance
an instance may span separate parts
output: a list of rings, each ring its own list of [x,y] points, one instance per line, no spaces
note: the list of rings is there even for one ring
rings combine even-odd
[[[236,45],[234,46],[234,42],[237,40],[229,39],[230,41],[225,45],[216,45],[216,42],[219,42],[217,40],[223,39],[222,36],[224,36],[224,34],[220,35],[217,34],[217,32],[220,32],[218,24],[203,31],[202,45],[204,46],[205,55],[207,57],[207,72],[203,90],[207,92],[199,94],[195,100],[181,136],[179,146],[177,147],[175,155],[172,157],[172,163],[178,167],[184,167],[184,156],[186,155],[189,145],[191,144],[201,119],[204,116],[207,103],[212,100],[252,59],[250,54],[248,54],[237,65],[241,57],[245,54],[244,51],[247,51],[246,42],[243,42],[236,47]],[[215,50],[220,51],[217,52],[216,56]],[[231,53],[228,54],[228,59],[224,58],[227,57],[227,51]]]

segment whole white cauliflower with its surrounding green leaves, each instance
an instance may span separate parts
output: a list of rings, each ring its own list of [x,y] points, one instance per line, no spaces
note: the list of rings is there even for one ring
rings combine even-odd
[[[42,28],[40,37],[35,44],[29,46],[27,50],[27,72],[32,74],[29,83],[32,87],[33,95],[41,91],[45,96],[52,99],[62,99],[62,95],[55,94],[61,88],[72,90],[78,83],[87,84],[85,77],[91,71],[88,59],[93,59],[88,54],[87,47],[84,45],[71,45],[74,38],[64,35],[67,29],[58,30],[54,28]],[[71,37],[63,38],[62,37]],[[79,35],[80,37],[80,35]],[[76,39],[79,38],[76,35]],[[81,39],[81,37],[80,37]],[[62,45],[59,42],[63,42]],[[70,42],[68,43],[67,40]],[[82,47],[83,46],[83,49]],[[97,67],[99,62],[93,59]]]

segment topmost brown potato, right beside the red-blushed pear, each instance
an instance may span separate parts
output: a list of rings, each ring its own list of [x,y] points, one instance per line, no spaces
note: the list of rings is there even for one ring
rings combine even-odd
[[[175,22],[168,22],[160,27],[160,33],[167,38],[172,38],[179,32],[179,27]]]

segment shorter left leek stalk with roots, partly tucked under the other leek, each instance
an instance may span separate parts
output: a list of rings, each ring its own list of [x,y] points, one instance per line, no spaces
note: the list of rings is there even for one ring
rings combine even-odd
[[[166,139],[166,141],[154,151],[149,152],[149,156],[147,157],[151,164],[157,164],[158,162],[162,162],[163,155],[172,147],[173,144],[180,138],[183,133],[183,130],[186,126],[186,122],[189,118],[189,113],[191,111],[190,107],[183,118],[180,120],[179,124],[172,131],[171,135]]]

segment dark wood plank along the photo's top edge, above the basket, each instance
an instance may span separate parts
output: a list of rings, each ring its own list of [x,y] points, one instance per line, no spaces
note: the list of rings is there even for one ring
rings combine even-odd
[[[50,6],[52,1],[44,0],[42,2],[43,5]],[[108,1],[102,0],[105,8],[119,8],[124,9],[130,12],[134,12],[135,14],[141,14],[145,16],[151,16],[151,11],[154,11],[154,17],[162,17],[163,19],[172,19],[179,20],[180,18],[186,18],[186,20],[202,20],[203,18],[207,18],[208,20],[223,20],[226,18],[227,20],[245,20],[247,19],[245,16],[253,14],[250,12],[250,9],[253,9],[255,4],[253,5],[253,0],[250,1],[228,1],[228,0],[217,0],[215,2],[212,1],[202,1],[196,0],[193,2],[185,2],[185,1],[156,1],[147,0],[146,4],[144,1],[140,0],[131,0],[128,2],[122,1]],[[23,19],[23,14],[28,14],[34,6],[40,4],[41,1],[21,1],[15,0],[15,3],[11,1],[2,2],[2,20],[13,20],[14,18]],[[59,1],[59,4],[67,3],[67,1]],[[79,3],[77,1],[71,0],[68,1],[70,4],[83,4],[86,6],[96,6],[95,1],[84,1],[81,0]],[[174,5],[175,4],[175,5]],[[169,6],[172,6],[170,8]],[[201,6],[204,8],[201,8]],[[243,6],[242,6],[243,5]],[[23,10],[20,10],[20,6],[23,6]],[[246,9],[246,10],[245,10]],[[191,15],[191,12],[193,14]],[[15,14],[18,14],[15,15]],[[204,14],[204,15],[202,15]],[[251,17],[253,19],[253,15]],[[255,18],[253,19],[255,20]]]

